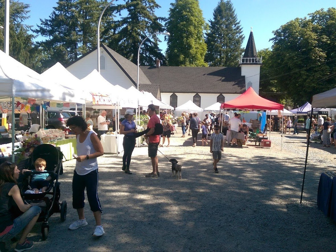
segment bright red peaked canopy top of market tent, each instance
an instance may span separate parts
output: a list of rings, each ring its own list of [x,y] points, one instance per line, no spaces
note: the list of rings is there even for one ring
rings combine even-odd
[[[265,98],[260,97],[253,90],[252,87],[248,88],[245,93],[241,94],[237,98],[230,100],[228,102],[224,102],[220,105],[220,108],[237,108],[241,110],[282,110],[284,105],[276,103],[274,101],[267,100]]]

